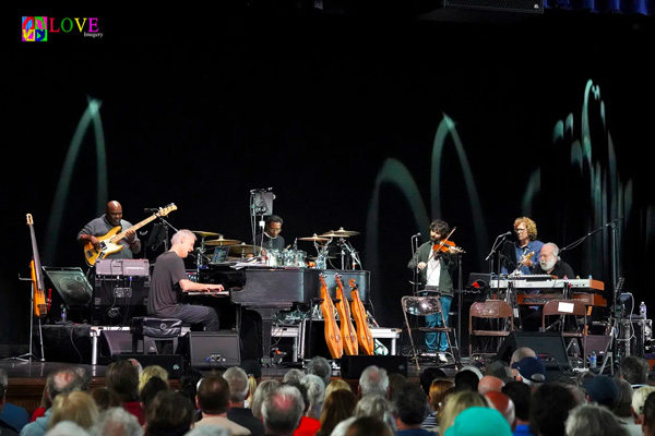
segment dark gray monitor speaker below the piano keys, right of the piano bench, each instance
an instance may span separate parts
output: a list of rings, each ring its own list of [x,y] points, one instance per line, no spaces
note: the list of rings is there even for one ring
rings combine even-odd
[[[180,339],[177,353],[195,370],[222,370],[241,363],[235,330],[189,331]]]

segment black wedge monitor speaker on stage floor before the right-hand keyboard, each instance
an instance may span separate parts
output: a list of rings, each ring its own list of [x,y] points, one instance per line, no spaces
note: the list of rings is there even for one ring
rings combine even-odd
[[[562,334],[557,331],[512,331],[498,349],[497,359],[510,362],[517,348],[527,347],[537,353],[546,371],[570,371],[571,363]]]

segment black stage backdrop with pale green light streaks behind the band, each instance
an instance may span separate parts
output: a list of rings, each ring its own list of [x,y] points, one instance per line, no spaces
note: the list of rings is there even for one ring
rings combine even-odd
[[[29,14],[98,16],[104,36],[22,43],[17,23]],[[175,227],[248,241],[249,192],[269,186],[289,242],[361,232],[350,243],[388,326],[402,324],[400,298],[412,291],[410,235],[425,240],[438,216],[457,227],[464,280],[488,270],[496,234],[529,215],[560,246],[600,229],[562,257],[608,289],[616,261],[626,290],[651,301],[647,21],[547,11],[444,23],[189,4],[33,8],[5,22],[0,344],[28,335],[26,213],[44,265],[84,268],[75,234],[108,199],[132,222],[175,203]],[[81,132],[72,159],[90,101],[99,123]],[[604,225],[617,218],[615,256]]]

